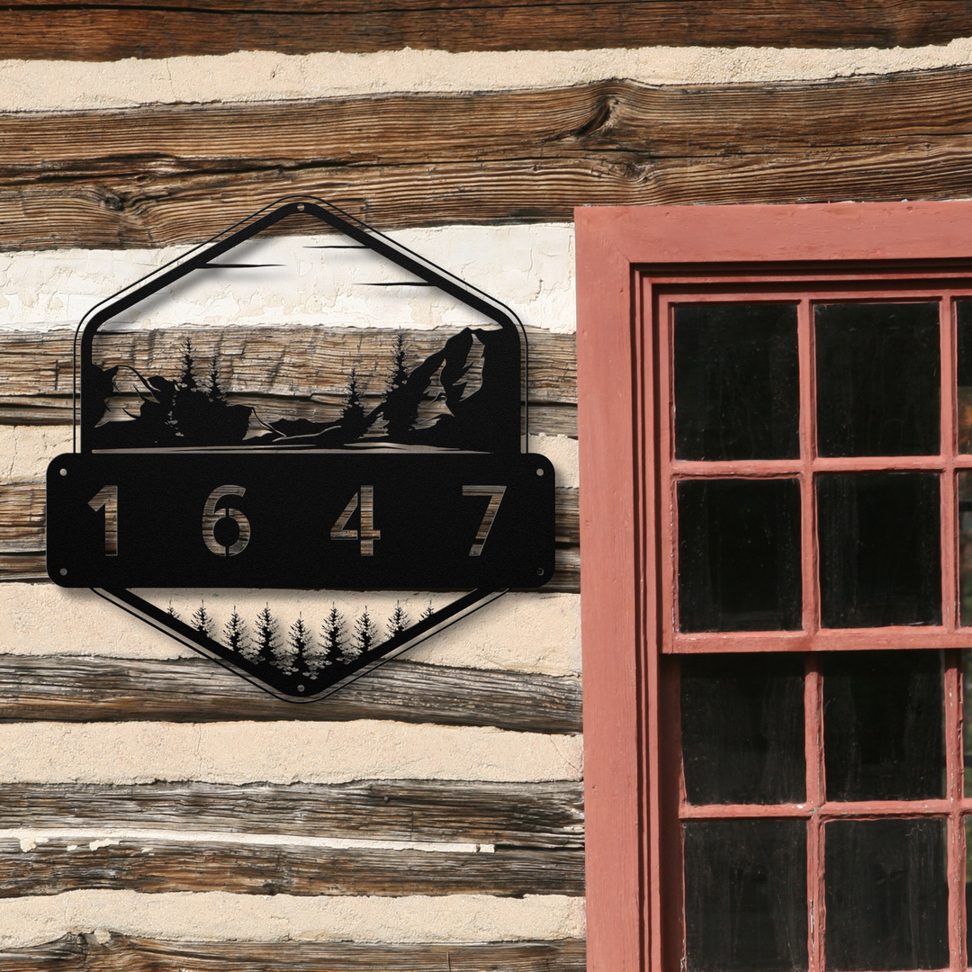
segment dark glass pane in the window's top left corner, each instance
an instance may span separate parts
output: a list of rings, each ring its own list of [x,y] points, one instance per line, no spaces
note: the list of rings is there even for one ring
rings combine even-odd
[[[675,308],[677,459],[800,454],[796,305]]]

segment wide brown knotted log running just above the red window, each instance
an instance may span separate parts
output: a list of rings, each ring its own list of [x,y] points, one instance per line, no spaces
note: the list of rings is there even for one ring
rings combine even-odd
[[[967,190],[970,108],[972,72],[955,69],[8,115],[0,244],[199,240],[292,192],[382,227],[570,220],[585,204],[948,197]]]

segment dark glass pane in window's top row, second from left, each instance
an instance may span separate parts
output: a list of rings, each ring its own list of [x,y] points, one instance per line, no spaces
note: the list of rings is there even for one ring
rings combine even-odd
[[[937,303],[816,307],[821,456],[933,456],[939,440]]]

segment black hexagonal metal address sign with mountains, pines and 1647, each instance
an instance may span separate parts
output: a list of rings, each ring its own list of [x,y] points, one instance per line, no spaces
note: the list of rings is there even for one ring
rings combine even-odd
[[[335,251],[335,259],[367,260],[361,265],[372,273],[395,268],[390,280],[360,281],[362,290],[410,288],[411,299],[419,289],[438,292],[464,305],[474,322],[411,361],[399,336],[377,401],[366,400],[361,375],[381,365],[367,360],[363,339],[358,359],[345,364],[341,399],[312,397],[310,417],[247,404],[257,399],[235,379],[226,391],[215,352],[208,374],[200,373],[191,336],[171,373],[143,375],[131,360],[130,335],[138,333],[140,308],[153,306],[149,298],[170,295],[191,274],[266,272],[271,264],[219,258],[294,218],[303,226],[319,221],[329,239],[341,234],[340,243],[317,248]],[[350,250],[366,252],[341,252]],[[119,328],[119,320],[126,325]],[[323,200],[281,200],[82,322],[80,440],[48,469],[52,580],[92,588],[300,702],[330,694],[508,588],[542,585],[554,571],[555,478],[545,457],[521,451],[521,334],[498,301]],[[319,340],[327,342],[329,332],[321,329]],[[377,350],[372,357],[380,358]],[[327,664],[327,645],[298,627],[282,664],[272,650],[245,650],[231,624],[224,635],[187,623],[133,588],[469,593],[417,624],[399,625],[384,641],[332,650]]]

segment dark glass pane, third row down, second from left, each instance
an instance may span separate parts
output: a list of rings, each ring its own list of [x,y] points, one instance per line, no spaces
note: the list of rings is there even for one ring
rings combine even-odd
[[[828,800],[945,796],[941,651],[847,651],[823,660]]]

